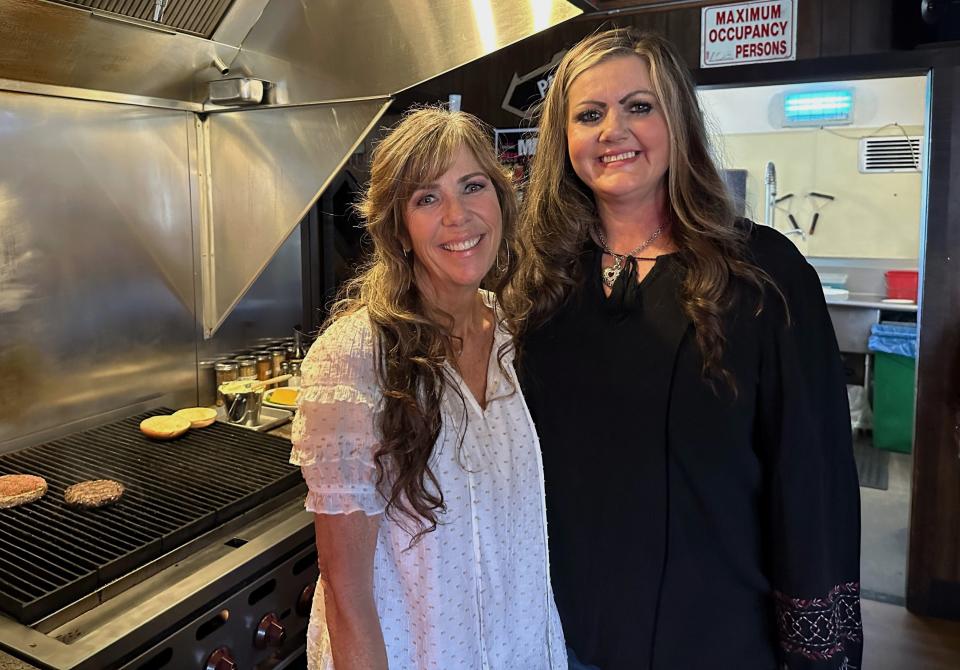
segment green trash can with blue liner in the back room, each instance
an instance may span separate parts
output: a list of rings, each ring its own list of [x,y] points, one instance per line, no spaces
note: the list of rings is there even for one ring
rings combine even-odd
[[[873,446],[909,454],[913,448],[916,324],[880,323],[871,328]]]

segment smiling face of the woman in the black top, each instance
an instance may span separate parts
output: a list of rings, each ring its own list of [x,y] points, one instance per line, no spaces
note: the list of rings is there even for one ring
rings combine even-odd
[[[598,201],[643,202],[665,186],[670,133],[639,56],[611,58],[573,80],[567,96],[567,151]]]

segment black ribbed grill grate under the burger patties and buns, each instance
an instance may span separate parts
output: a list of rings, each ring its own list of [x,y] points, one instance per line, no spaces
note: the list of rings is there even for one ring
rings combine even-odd
[[[140,421],[160,409],[0,456],[0,475],[34,474],[39,501],[0,510],[0,609],[33,623],[300,482],[282,438],[214,423],[168,442]],[[115,479],[117,504],[77,510],[67,486]]]

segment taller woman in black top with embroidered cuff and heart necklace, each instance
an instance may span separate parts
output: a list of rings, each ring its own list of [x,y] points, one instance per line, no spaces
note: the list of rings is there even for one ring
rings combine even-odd
[[[669,43],[612,30],[567,53],[524,209],[513,299],[571,668],[859,668],[823,294],[735,218]]]

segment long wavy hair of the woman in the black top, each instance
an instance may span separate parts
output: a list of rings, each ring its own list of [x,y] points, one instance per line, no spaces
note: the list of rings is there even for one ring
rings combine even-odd
[[[687,68],[670,42],[657,34],[631,28],[596,33],[570,49],[557,66],[538,113],[537,152],[521,212],[524,253],[508,304],[521,315],[521,329],[530,328],[548,319],[583,281],[578,258],[600,220],[593,193],[577,177],[567,150],[569,91],[586,70],[624,56],[638,56],[650,68],[670,133],[668,225],[686,268],[681,302],[694,324],[703,374],[711,384],[719,378],[735,391],[735,380],[721,364],[731,280],[744,280],[761,296],[770,281],[748,260],[749,231],[737,225]]]

